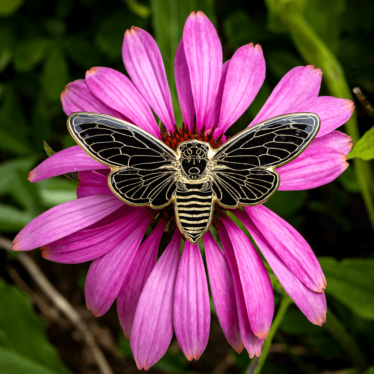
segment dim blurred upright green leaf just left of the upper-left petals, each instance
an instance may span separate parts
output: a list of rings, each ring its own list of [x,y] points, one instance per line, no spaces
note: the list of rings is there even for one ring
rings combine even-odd
[[[45,95],[51,100],[59,101],[61,92],[70,80],[65,58],[55,46],[43,67],[42,85]]]

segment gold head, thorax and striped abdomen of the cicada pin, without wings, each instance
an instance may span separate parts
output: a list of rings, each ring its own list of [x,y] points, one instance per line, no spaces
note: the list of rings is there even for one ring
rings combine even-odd
[[[207,179],[209,149],[208,144],[194,140],[178,146],[181,178],[175,191],[175,218],[181,232],[193,243],[212,222],[214,196]]]

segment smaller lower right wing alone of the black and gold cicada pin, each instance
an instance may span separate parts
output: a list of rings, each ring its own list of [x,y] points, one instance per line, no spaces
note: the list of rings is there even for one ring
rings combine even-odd
[[[257,205],[267,199],[279,186],[279,175],[271,170],[217,170],[212,173],[212,190],[219,205],[236,208],[238,205]]]

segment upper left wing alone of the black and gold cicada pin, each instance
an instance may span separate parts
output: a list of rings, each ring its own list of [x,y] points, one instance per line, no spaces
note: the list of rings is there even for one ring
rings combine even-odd
[[[73,113],[67,125],[80,147],[104,165],[156,170],[175,160],[175,153],[162,141],[106,114]]]

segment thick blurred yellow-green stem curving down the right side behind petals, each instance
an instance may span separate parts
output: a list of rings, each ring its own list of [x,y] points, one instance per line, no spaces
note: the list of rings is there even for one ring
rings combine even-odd
[[[305,61],[318,66],[331,95],[353,100],[353,95],[344,76],[343,68],[303,16],[303,7],[296,1],[266,0],[270,12],[276,12],[291,31],[292,40]],[[345,131],[353,142],[359,140],[356,111],[344,124]],[[356,176],[361,186],[362,198],[374,229],[374,177],[370,164],[359,158],[353,161]]]

